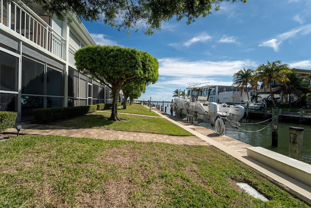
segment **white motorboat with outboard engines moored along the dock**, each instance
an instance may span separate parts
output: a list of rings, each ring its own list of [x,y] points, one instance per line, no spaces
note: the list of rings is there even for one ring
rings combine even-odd
[[[197,118],[197,122],[215,125],[218,118],[239,122],[244,116],[244,107],[241,105],[208,102],[213,88],[194,85],[188,87],[187,90],[188,93],[185,97],[174,98],[173,111],[178,118],[188,119],[190,116],[195,116],[194,120]]]

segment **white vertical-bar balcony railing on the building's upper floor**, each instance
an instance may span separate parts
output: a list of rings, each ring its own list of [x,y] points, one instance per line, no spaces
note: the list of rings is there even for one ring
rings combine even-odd
[[[31,10],[27,12],[14,1],[8,3],[6,0],[0,0],[0,2],[1,24],[50,51],[55,56],[64,58],[65,40],[48,23]]]

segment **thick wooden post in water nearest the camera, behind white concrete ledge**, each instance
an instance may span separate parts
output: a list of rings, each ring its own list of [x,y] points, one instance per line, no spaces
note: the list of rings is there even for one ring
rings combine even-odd
[[[304,128],[290,126],[289,156],[301,161],[301,150]]]

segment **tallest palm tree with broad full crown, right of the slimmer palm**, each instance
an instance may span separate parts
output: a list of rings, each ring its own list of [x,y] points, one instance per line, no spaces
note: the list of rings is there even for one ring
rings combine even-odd
[[[272,82],[281,82],[284,83],[288,81],[288,77],[286,74],[290,73],[292,70],[288,67],[287,64],[281,64],[280,60],[274,61],[270,63],[267,61],[267,64],[260,64],[256,70],[257,77],[259,81],[263,81],[265,83],[265,87],[269,86],[271,100],[273,106],[276,107],[276,103],[274,102],[273,93],[272,93]]]

